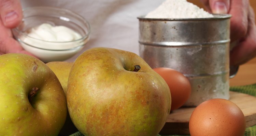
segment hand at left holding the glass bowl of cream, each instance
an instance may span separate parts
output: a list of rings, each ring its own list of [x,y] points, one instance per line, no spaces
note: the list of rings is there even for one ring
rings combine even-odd
[[[31,53],[25,51],[13,38],[12,28],[22,21],[22,7],[19,0],[0,0],[0,54]]]

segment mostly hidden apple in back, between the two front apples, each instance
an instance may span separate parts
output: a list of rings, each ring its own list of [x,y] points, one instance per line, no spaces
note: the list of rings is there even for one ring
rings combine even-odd
[[[60,81],[60,84],[65,92],[65,95],[67,94],[67,86],[68,86],[68,78],[69,78],[69,72],[73,65],[72,62],[48,62],[46,65],[53,70],[53,72],[56,74],[57,78]],[[78,130],[74,126],[73,122],[70,119],[69,113],[67,114],[66,122],[63,125],[62,129],[60,130],[61,136],[68,136],[71,135]]]

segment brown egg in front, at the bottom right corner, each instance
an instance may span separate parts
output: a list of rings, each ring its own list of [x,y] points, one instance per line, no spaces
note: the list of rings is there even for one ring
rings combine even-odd
[[[244,136],[245,117],[226,99],[210,99],[193,111],[189,120],[191,136]]]

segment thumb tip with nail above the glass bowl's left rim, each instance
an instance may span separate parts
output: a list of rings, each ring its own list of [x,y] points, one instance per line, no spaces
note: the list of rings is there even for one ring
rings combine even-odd
[[[22,7],[20,1],[0,0],[0,14],[5,27],[17,27],[22,21]]]

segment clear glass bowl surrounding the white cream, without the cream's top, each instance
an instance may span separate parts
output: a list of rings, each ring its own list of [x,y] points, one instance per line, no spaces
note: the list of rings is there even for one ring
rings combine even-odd
[[[64,61],[79,52],[89,40],[90,24],[82,16],[63,8],[30,7],[23,10],[22,23],[12,30],[14,37],[28,52],[39,57],[43,62]],[[65,26],[79,33],[82,38],[52,42],[28,36],[27,31],[42,23],[53,26]]]

